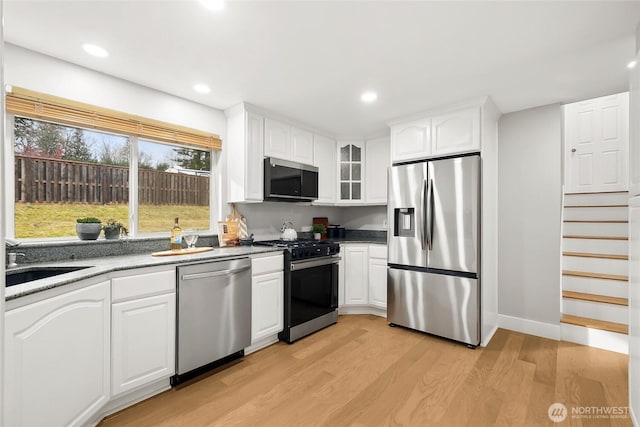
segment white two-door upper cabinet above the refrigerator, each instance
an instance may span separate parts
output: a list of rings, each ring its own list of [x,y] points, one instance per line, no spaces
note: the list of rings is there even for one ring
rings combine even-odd
[[[391,124],[394,163],[480,151],[480,107]]]

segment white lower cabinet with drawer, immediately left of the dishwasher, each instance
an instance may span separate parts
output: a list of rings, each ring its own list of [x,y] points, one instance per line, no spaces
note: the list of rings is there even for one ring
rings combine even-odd
[[[175,373],[175,268],[112,280],[111,394]]]

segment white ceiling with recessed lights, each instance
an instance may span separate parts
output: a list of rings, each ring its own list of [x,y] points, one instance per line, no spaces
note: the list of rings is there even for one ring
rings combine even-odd
[[[640,2],[228,1],[214,13],[195,0],[4,0],[4,16],[10,43],[215,108],[247,101],[366,137],[482,95],[507,113],[626,91]],[[89,57],[84,42],[110,56]]]

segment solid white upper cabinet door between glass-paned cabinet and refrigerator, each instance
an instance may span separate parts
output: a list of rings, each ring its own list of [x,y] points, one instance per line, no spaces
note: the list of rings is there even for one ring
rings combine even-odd
[[[365,151],[365,203],[387,204],[387,170],[391,166],[389,138],[366,142]]]

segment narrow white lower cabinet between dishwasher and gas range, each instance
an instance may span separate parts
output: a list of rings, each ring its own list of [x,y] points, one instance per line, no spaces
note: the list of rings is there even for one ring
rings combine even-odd
[[[251,344],[274,337],[284,328],[282,254],[251,259]],[[271,341],[275,341],[275,338]],[[255,349],[254,349],[255,350]]]

